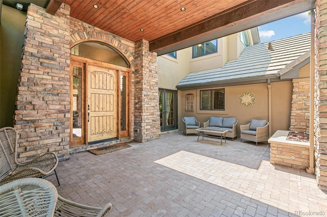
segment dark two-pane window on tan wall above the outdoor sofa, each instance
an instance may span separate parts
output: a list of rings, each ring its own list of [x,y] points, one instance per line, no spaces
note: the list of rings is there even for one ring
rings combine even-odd
[[[225,89],[200,91],[200,110],[225,110]]]

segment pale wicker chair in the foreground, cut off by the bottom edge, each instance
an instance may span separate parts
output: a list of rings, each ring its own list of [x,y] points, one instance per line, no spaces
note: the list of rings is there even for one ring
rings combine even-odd
[[[65,200],[49,181],[23,178],[0,186],[0,216],[105,216],[111,203],[103,208]]]

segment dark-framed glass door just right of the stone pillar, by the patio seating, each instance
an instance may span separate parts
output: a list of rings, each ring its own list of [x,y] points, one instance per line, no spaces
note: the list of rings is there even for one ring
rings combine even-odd
[[[176,91],[159,90],[159,111],[161,131],[177,129]]]

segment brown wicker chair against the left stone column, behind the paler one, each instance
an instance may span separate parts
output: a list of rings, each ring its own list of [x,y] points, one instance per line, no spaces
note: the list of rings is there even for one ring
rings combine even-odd
[[[56,154],[46,152],[33,160],[17,162],[17,131],[12,127],[0,129],[0,185],[10,181],[36,177],[42,178],[55,174],[60,185],[55,168],[58,164]]]

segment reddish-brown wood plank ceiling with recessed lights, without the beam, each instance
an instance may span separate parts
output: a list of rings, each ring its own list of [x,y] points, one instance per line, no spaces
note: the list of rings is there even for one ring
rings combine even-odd
[[[245,2],[249,1],[64,1],[71,6],[72,17],[131,41],[153,41]],[[95,9],[94,5],[99,8]]]

